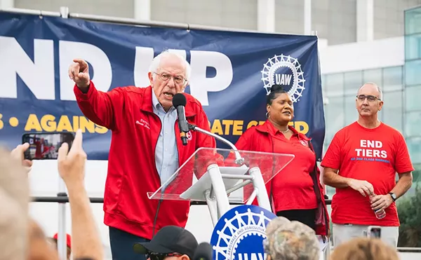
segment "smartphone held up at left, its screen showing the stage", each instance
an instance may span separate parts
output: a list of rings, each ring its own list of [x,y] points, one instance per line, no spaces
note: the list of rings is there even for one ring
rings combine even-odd
[[[63,143],[72,146],[74,133],[72,132],[31,132],[22,135],[22,144],[29,143],[24,153],[27,160],[55,160],[58,149]]]

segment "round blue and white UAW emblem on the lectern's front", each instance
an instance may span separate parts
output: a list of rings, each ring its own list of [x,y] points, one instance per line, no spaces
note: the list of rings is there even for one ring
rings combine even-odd
[[[213,260],[265,260],[266,226],[276,215],[255,205],[241,205],[225,213],[213,229]]]

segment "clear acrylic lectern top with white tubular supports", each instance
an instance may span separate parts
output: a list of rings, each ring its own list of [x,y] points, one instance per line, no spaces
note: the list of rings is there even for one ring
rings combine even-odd
[[[292,154],[200,148],[149,199],[206,201],[213,225],[229,210],[229,203],[258,205],[272,211],[265,184]]]

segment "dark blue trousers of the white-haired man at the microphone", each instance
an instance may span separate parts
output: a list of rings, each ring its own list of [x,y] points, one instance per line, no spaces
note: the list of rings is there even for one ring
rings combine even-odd
[[[145,254],[133,251],[136,242],[149,242],[149,240],[109,226],[109,244],[113,260],[146,260]]]

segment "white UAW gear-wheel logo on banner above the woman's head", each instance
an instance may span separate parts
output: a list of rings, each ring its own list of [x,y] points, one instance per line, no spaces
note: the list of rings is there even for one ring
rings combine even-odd
[[[274,84],[282,85],[293,102],[300,101],[304,88],[304,72],[298,59],[291,56],[274,55],[263,65],[262,81],[267,95]]]

